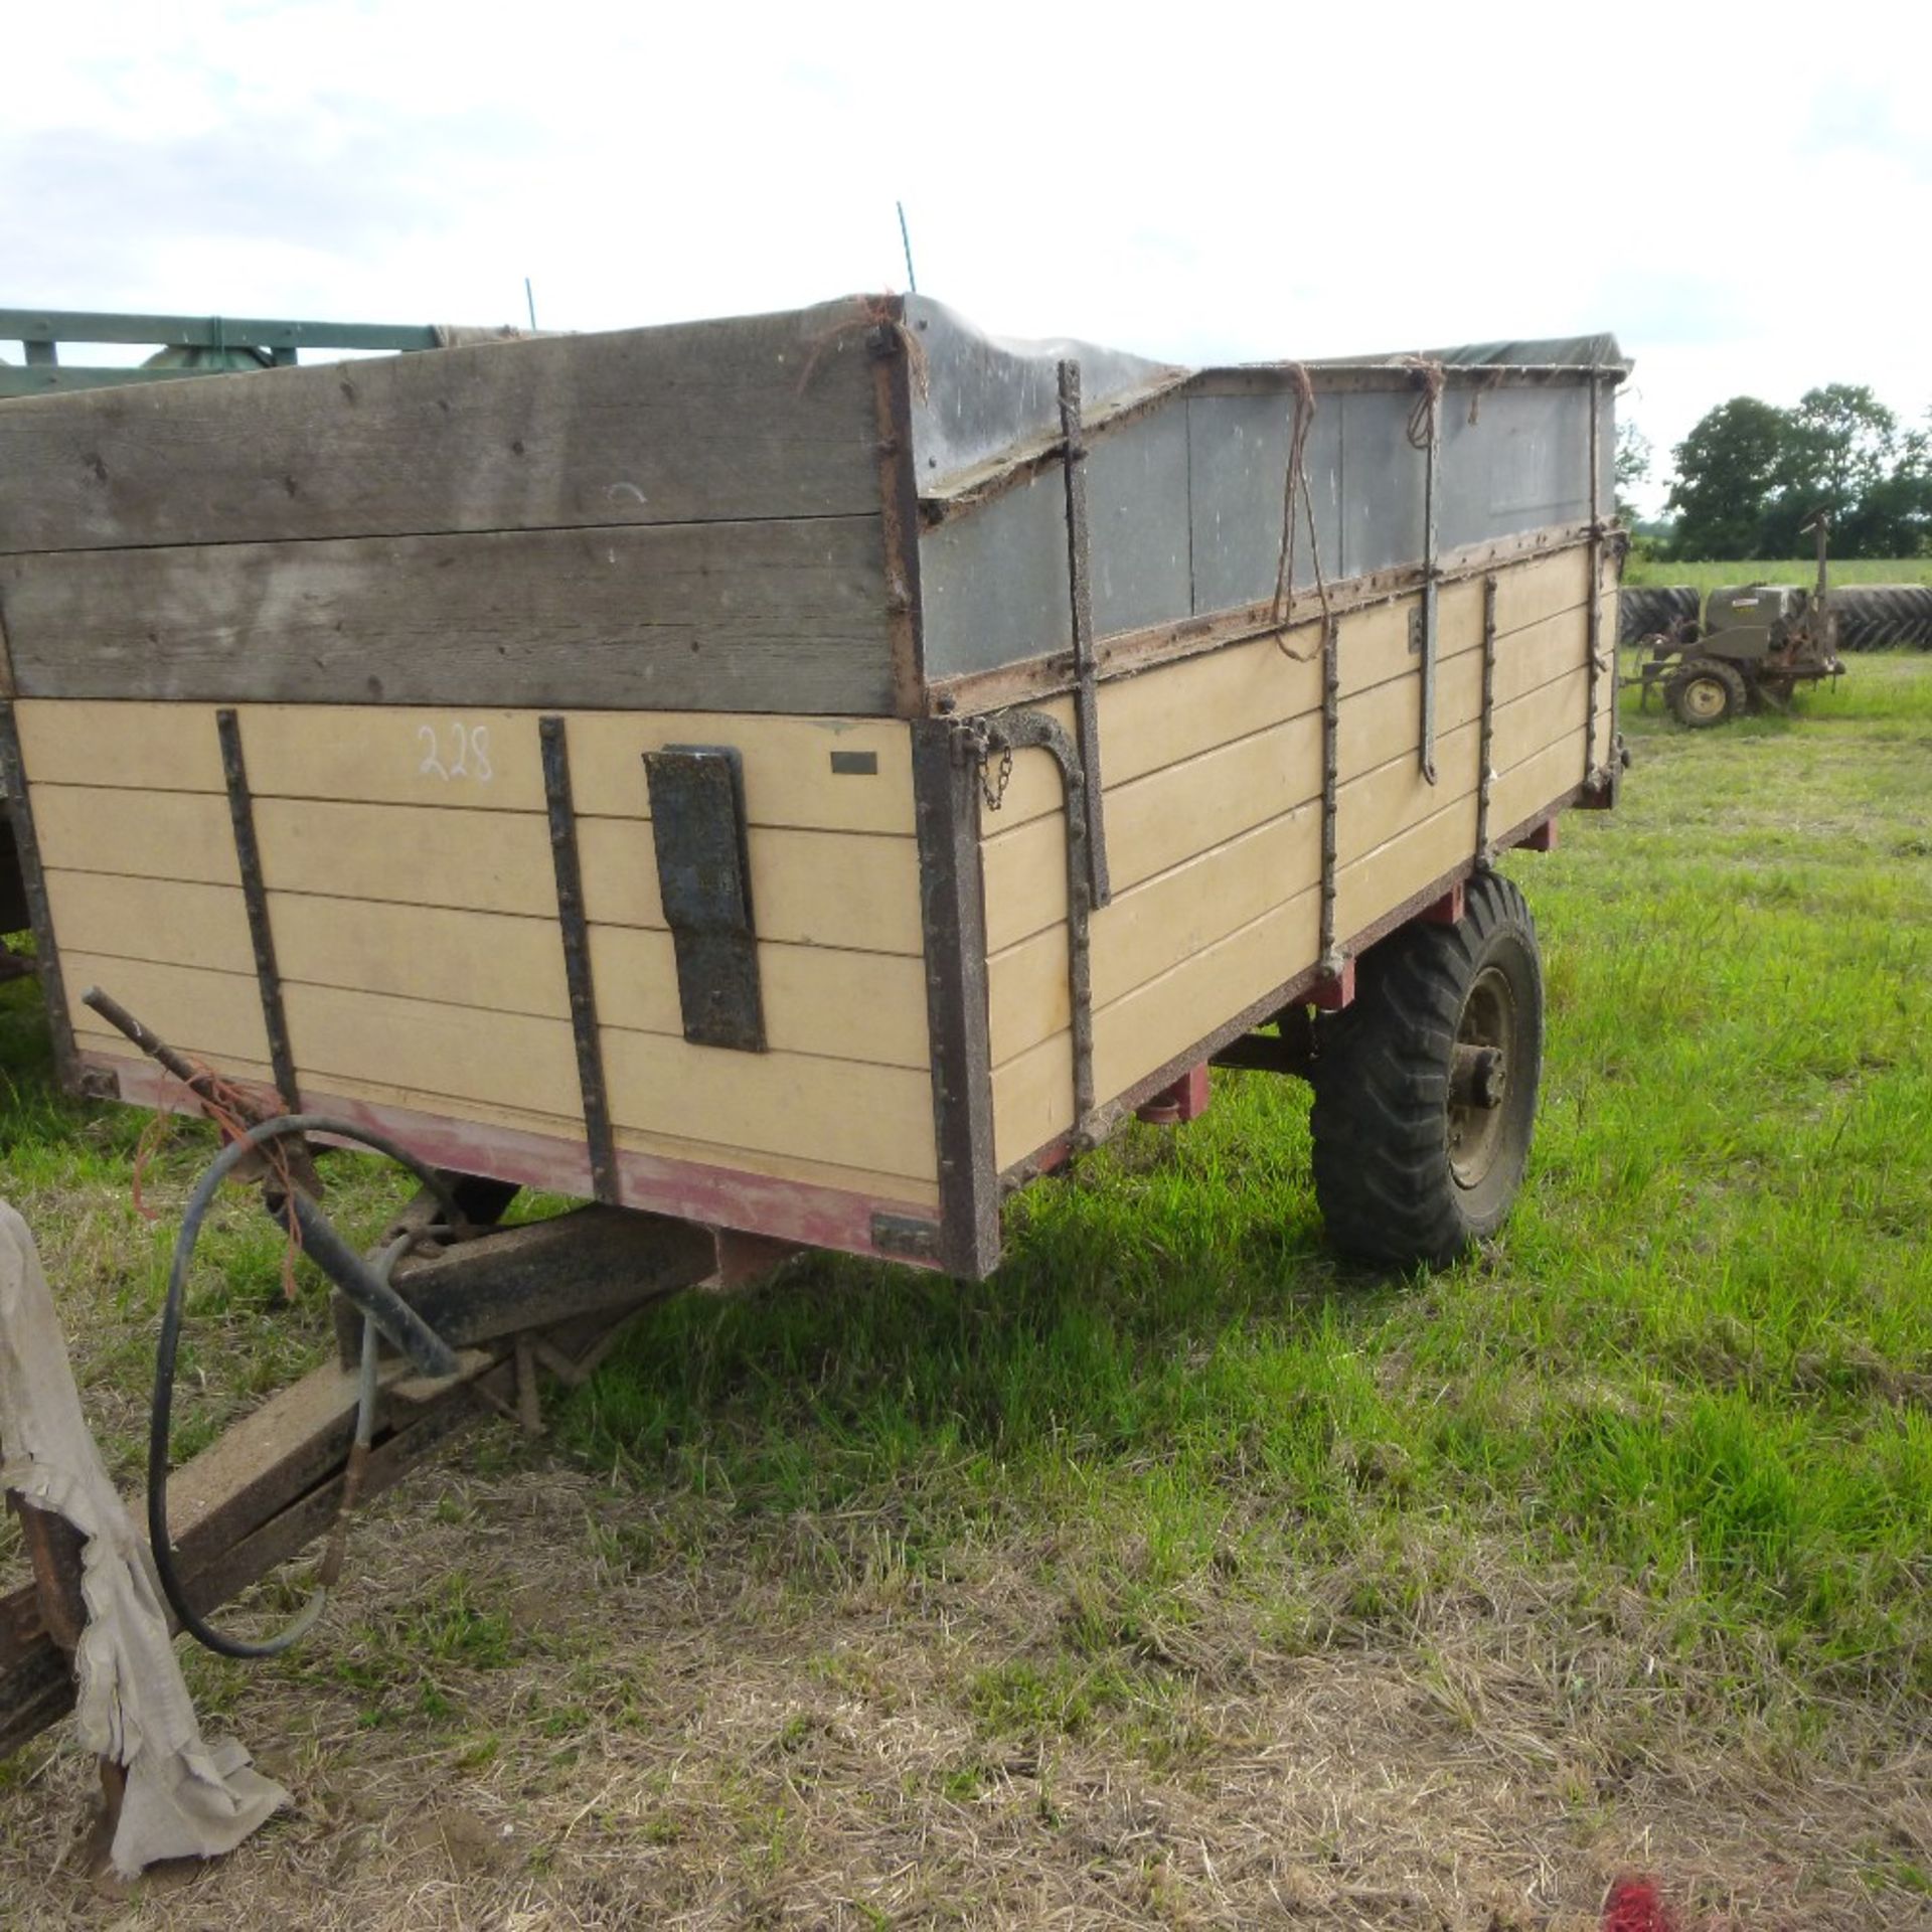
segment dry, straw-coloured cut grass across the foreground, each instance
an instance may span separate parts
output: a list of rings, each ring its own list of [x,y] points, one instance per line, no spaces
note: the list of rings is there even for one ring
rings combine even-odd
[[[883,1522],[782,1551],[721,1513],[612,1561],[653,1528],[570,1468],[423,1472],[305,1662],[199,1673],[296,1814],[102,1889],[58,1864],[89,1768],[43,1741],[0,1826],[8,1922],[1555,1932],[1642,1866],[1687,1922],[1764,1932],[1901,1924],[1859,1874],[1932,1851],[1922,1735],[1712,1735],[1640,1621],[1578,1627],[1495,1551],[1399,1640],[1300,1656],[1204,1577],[1153,1706],[989,1735],[987,1665],[1057,1654],[1068,1613],[1037,1548],[929,1582]]]

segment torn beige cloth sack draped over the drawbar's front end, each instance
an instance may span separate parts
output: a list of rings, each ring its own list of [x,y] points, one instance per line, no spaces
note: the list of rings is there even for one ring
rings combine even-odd
[[[288,1793],[236,1743],[207,1745],[147,1544],[108,1482],[27,1223],[0,1202],[0,1488],[87,1538],[73,1658],[81,1743],[128,1770],[114,1868],[234,1851]]]

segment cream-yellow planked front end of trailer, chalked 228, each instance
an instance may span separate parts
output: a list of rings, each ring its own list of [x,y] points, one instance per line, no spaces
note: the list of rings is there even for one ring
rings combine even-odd
[[[185,1051],[259,1076],[213,707],[43,699],[19,719],[83,1045],[126,1051],[77,1003],[100,983]],[[240,719],[299,1078],[582,1140],[535,713]],[[620,1146],[935,1198],[906,726],[580,713],[568,740]],[[692,742],[744,757],[759,1055],[682,1036],[641,752]],[[835,771],[833,750],[862,755]]]

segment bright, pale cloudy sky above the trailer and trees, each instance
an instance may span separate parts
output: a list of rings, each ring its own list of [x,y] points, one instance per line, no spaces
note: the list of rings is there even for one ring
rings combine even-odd
[[[904,288],[1258,361],[1613,330],[1932,406],[1932,8],[15,8],[0,307],[620,328]],[[17,355],[0,342],[0,355]]]

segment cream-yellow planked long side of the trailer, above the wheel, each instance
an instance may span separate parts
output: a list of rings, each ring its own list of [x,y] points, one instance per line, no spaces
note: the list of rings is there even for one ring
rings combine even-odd
[[[1497,574],[1492,831],[1582,779],[1588,597],[1582,549]],[[1414,605],[1406,597],[1350,612],[1337,632],[1345,941],[1476,846],[1482,583],[1447,585],[1439,599],[1434,784],[1418,759]],[[1613,624],[1613,601],[1605,609]],[[1605,753],[1611,690],[1605,674]],[[1099,1099],[1316,962],[1320,696],[1316,624],[1101,686],[1115,896],[1090,923]],[[1072,724],[1066,701],[1045,709]],[[1051,759],[1020,753],[1001,810],[983,810],[980,823],[995,1157],[1010,1167],[1072,1126],[1065,811]]]

